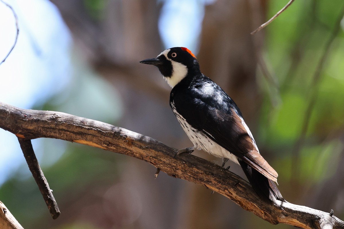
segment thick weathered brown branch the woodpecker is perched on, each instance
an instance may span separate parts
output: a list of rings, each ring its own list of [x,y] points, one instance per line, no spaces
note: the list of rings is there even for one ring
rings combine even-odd
[[[147,161],[175,178],[218,192],[271,224],[300,228],[344,228],[344,222],[324,211],[287,202],[284,210],[259,199],[236,174],[190,154],[173,158],[176,150],[150,137],[92,119],[53,111],[25,110],[0,102],[0,128],[25,138],[57,138]]]

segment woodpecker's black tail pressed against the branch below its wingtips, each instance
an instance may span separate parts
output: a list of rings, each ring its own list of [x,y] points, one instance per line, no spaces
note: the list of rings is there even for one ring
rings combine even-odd
[[[264,199],[265,201],[272,201],[276,205],[278,205],[275,201],[276,199],[286,202],[278,190],[275,182],[266,178],[266,176],[262,175],[244,161],[239,160],[239,163],[241,168],[243,168],[248,181],[260,198]]]

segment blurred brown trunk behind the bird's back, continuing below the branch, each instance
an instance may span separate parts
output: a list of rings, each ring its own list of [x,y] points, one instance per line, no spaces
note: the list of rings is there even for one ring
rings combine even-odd
[[[257,18],[264,19],[262,5],[249,0],[218,0],[208,5],[197,55],[202,73],[233,98],[253,135],[261,101],[256,82],[256,56],[262,36],[252,36],[250,32],[260,25]],[[214,160],[205,154],[202,157]],[[237,165],[230,170],[245,177]],[[189,214],[184,215],[185,225],[181,228],[238,228],[242,225],[239,219],[245,218],[244,211],[225,201],[223,196],[210,196],[209,190],[193,184],[187,185],[186,193],[189,193],[185,195],[189,196],[190,209]]]

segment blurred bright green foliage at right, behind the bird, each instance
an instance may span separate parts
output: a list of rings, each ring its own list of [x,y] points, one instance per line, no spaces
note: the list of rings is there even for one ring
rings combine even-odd
[[[271,1],[268,15],[275,14],[283,4]],[[298,168],[300,183],[306,180],[316,183],[328,179],[337,168],[333,160],[343,147],[336,133],[344,129],[343,31],[331,46],[319,80],[314,80],[314,73],[342,5],[340,0],[331,4],[295,1],[267,27],[267,59],[280,82],[281,102],[272,107],[271,95],[266,94],[259,129],[265,146],[279,154],[276,169],[283,179],[290,180],[292,170]],[[311,116],[305,120],[313,96]],[[293,161],[293,150],[305,122],[308,122],[307,134],[298,159]]]

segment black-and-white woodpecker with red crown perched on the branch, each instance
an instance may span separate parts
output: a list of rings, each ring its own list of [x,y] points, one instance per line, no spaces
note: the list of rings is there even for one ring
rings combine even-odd
[[[185,47],[164,50],[156,58],[140,61],[158,67],[172,88],[170,107],[192,147],[180,153],[203,149],[239,164],[257,195],[280,205],[285,202],[277,188],[277,172],[261,156],[256,141],[232,98],[200,70],[196,56]],[[275,183],[276,182],[276,183]]]

